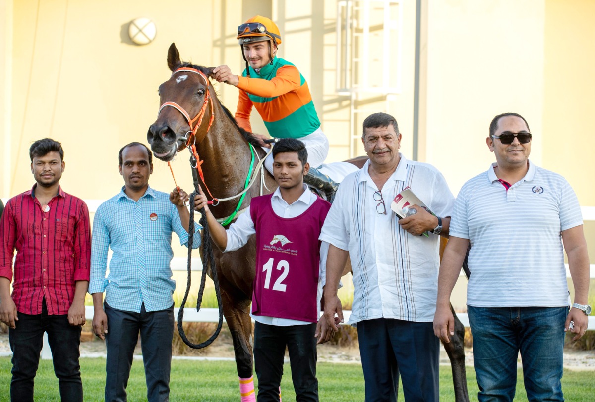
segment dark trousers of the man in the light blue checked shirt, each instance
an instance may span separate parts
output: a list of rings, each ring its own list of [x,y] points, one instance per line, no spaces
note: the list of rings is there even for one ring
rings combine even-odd
[[[139,339],[145,363],[147,400],[165,402],[170,398],[171,340],[174,335],[174,306],[167,310],[140,313],[121,311],[104,303],[108,316],[108,333],[105,334],[107,361],[105,400],[126,401],[126,386],[134,348]]]

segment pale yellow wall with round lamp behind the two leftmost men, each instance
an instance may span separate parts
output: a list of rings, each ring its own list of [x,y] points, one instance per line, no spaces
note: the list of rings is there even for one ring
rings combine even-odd
[[[239,0],[179,1],[167,7],[159,0],[18,0],[4,5],[12,7],[13,18],[12,54],[3,53],[8,64],[4,77],[8,74],[12,85],[11,127],[5,131],[12,158],[4,164],[10,174],[2,175],[2,197],[32,185],[27,150],[46,136],[64,145],[66,191],[85,199],[105,199],[119,191],[118,150],[130,141],[146,143],[159,106],[157,87],[171,74],[166,64],[171,42],[186,61],[242,68],[234,34],[242,20]],[[153,43],[131,43],[127,29],[137,17],[155,22]],[[5,37],[10,34],[8,25],[1,30]],[[235,109],[236,88],[218,85],[217,90]],[[177,158],[174,169],[180,185],[190,188],[186,154]],[[151,185],[173,188],[165,164],[155,163]]]

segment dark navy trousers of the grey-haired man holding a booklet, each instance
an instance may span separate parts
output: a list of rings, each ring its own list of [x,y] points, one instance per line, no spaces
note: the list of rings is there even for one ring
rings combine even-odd
[[[365,402],[396,402],[399,373],[407,402],[438,402],[440,341],[431,322],[358,322]]]

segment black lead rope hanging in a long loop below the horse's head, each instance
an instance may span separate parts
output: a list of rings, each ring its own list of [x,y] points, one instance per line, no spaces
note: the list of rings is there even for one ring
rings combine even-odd
[[[190,163],[192,163],[192,160],[190,161]],[[217,269],[215,268],[215,258],[213,256],[211,233],[209,233],[209,226],[206,222],[205,208],[202,208],[200,211],[201,220],[199,220],[199,223],[203,227],[202,276],[201,287],[199,287],[198,299],[196,300],[196,312],[199,312],[201,310],[202,296],[205,292],[206,271],[210,266],[211,273],[213,274],[212,280],[215,284],[217,304],[219,306],[219,323],[217,324],[217,330],[215,330],[211,337],[209,337],[206,341],[199,344],[192,343],[186,337],[186,333],[184,332],[182,324],[184,321],[184,306],[186,306],[186,300],[188,299],[188,294],[190,293],[190,283],[192,281],[192,271],[190,270],[190,268],[192,266],[192,245],[194,242],[194,197],[196,194],[198,194],[198,174],[196,173],[196,169],[192,169],[192,179],[194,181],[195,191],[193,191],[192,194],[190,194],[190,222],[188,224],[188,280],[186,285],[186,293],[184,293],[184,299],[182,300],[182,305],[180,306],[180,311],[178,312],[178,332],[180,333],[180,337],[182,338],[184,343],[192,347],[192,349],[202,349],[203,347],[209,346],[211,343],[213,343],[215,338],[217,338],[217,336],[221,332],[221,326],[223,325],[223,305],[221,303],[221,289],[219,287],[219,279],[217,278]]]

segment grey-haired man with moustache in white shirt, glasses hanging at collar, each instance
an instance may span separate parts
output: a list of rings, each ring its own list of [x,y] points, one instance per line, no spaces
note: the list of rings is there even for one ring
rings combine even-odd
[[[330,243],[324,315],[333,329],[335,314],[343,318],[337,285],[349,255],[349,322],[358,327],[365,400],[396,401],[400,374],[406,401],[438,401],[440,341],[432,319],[439,235],[447,236],[455,197],[435,167],[399,153],[401,138],[393,116],[374,113],[364,121],[369,161],[341,182],[320,235]],[[408,186],[436,216],[417,207],[399,219],[390,210]]]

